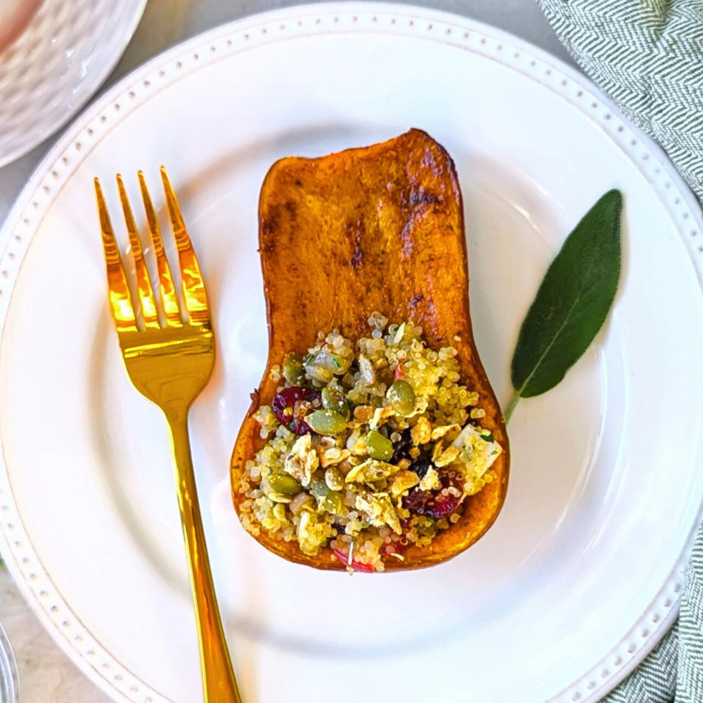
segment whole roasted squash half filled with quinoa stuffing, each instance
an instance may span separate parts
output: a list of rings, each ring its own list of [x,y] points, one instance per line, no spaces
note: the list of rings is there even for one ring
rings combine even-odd
[[[269,360],[231,463],[245,529],[318,569],[465,550],[501,509],[509,448],[472,337],[446,150],[413,129],[279,160],[259,244]]]

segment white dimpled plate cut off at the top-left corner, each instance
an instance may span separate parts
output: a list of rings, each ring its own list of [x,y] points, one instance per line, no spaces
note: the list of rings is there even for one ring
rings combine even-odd
[[[23,12],[30,4],[39,5],[23,1]],[[21,36],[0,46],[0,166],[37,146],[85,105],[122,56],[145,5],[44,0]],[[6,18],[13,23],[8,41],[20,30],[17,18]],[[3,37],[0,32],[6,44]]]

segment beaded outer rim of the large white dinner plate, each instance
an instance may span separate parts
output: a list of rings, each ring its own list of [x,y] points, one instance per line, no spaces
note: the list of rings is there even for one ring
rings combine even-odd
[[[67,129],[37,167],[6,220],[0,239],[0,344],[15,278],[49,205],[86,153],[161,88],[180,77],[271,42],[334,32],[401,34],[496,60],[553,91],[607,134],[650,184],[676,223],[703,280],[703,217],[697,200],[666,155],[621,117],[586,77],[527,41],[482,22],[440,11],[382,3],[329,3],[271,11],[228,22],[152,58],[120,80]],[[659,643],[678,614],[685,565],[703,515],[699,509],[687,547],[657,597],[606,657],[545,703],[591,703],[620,683]],[[63,600],[34,552],[0,455],[0,550],[20,590],[60,647],[105,693],[120,702],[173,703],[139,680],[101,647]]]

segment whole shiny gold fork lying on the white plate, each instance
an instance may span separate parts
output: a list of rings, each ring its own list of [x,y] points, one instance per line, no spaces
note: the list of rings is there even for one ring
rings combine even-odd
[[[134,259],[138,304],[132,303],[103,192],[100,182],[95,179],[105,263],[108,268],[110,309],[115,318],[122,358],[131,382],[141,394],[161,408],[169,426],[183,538],[186,542],[195,620],[198,625],[205,703],[241,703],[212,586],[188,440],[188,409],[212,375],[215,358],[205,283],[183,224],[176,195],[162,168],[161,177],[178,250],[183,302],[188,316],[188,321],[183,322],[158,220],[141,171],[138,177],[156,257],[163,323],[159,318],[157,297],[149,279],[127,192],[119,175],[117,187]],[[141,321],[138,311],[141,311]]]

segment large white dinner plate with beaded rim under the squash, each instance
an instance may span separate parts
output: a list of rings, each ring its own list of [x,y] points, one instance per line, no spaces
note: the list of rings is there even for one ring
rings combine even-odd
[[[273,556],[230,501],[231,448],[266,358],[257,200],[278,157],[410,127],[456,162],[477,346],[503,404],[550,258],[612,187],[624,266],[593,347],[517,406],[488,534],[430,569],[349,578]],[[93,200],[99,176],[119,225],[112,176],[137,203],[143,169],[163,214],[162,164],[214,308],[219,356],[191,434],[245,701],[566,703],[612,688],[676,617],[699,521],[700,213],[576,72],[407,6],[290,8],[176,47],[92,105],[15,205],[0,259],[1,541],[58,643],[117,701],[200,700],[165,424],[124,374]]]

